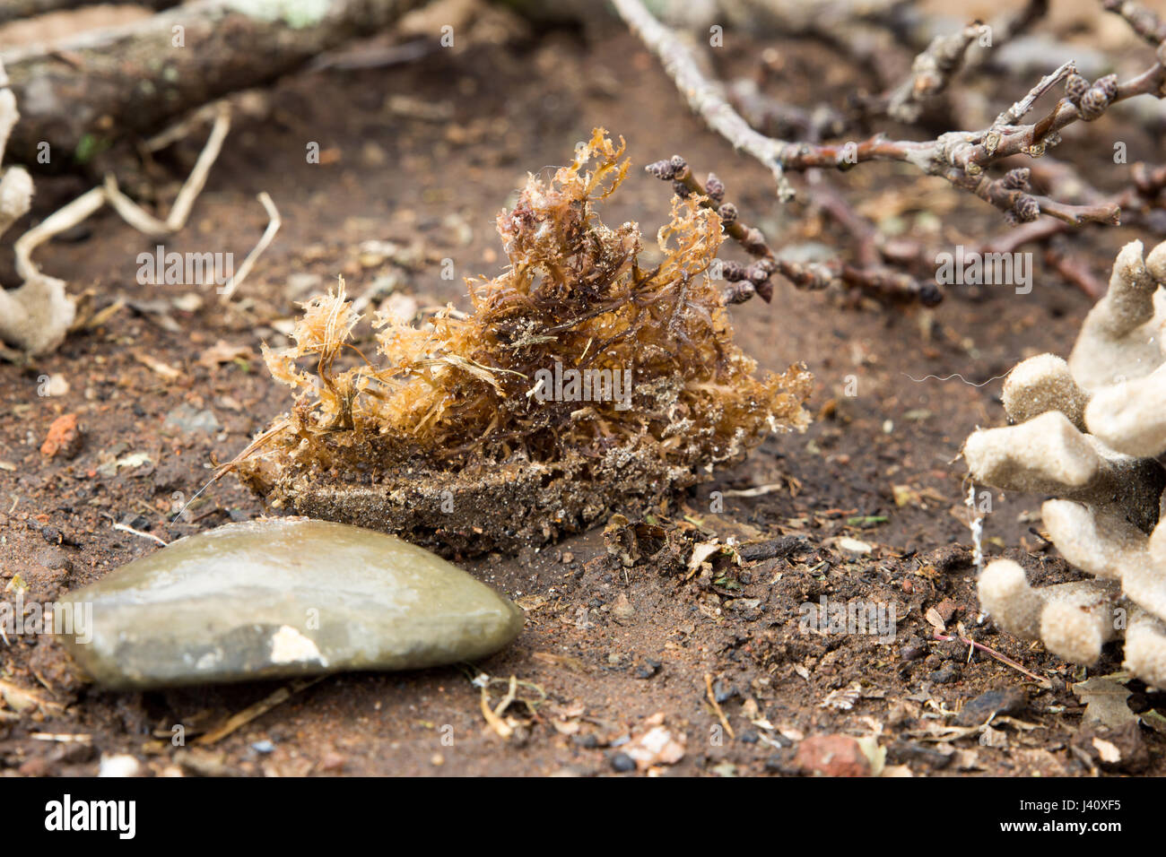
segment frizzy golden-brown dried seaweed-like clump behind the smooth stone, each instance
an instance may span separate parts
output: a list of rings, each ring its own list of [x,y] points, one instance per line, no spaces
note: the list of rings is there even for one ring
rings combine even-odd
[[[600,223],[595,203],[627,171],[620,143],[596,129],[571,166],[531,176],[498,216],[510,265],[468,280],[469,315],[375,314],[368,360],[346,344],[358,318],[343,289],[304,304],[295,345],[265,352],[295,406],[248,449],[243,480],[301,514],[518,550],[707,478],[766,430],[803,428],[805,366],[754,377],[705,276],[717,213],[674,199],[651,268],[635,224]],[[339,371],[342,354],[358,364]]]

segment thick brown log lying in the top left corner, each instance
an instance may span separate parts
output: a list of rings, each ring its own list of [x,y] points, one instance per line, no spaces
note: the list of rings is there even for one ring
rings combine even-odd
[[[54,164],[73,155],[84,161],[94,147],[153,134],[208,101],[381,31],[420,1],[331,0],[312,5],[310,20],[292,27],[252,8],[264,3],[190,0],[125,24],[7,48],[0,56],[23,113],[12,154],[34,163],[47,142]],[[58,159],[58,152],[68,155]]]

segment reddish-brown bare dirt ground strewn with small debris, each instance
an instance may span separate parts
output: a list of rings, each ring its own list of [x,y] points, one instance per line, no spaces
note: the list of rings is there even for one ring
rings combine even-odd
[[[812,103],[813,94],[838,103],[862,73],[812,43],[778,47],[787,58],[782,94],[791,100]],[[743,45],[736,62],[747,63],[758,48]],[[813,92],[807,82],[814,82]],[[1011,93],[1021,84],[1000,89]],[[393,113],[386,108],[393,93],[448,105],[452,118]],[[149,311],[154,304],[143,302],[168,302],[183,289],[139,286],[135,257],[154,241],[108,215],[51,253],[41,252],[45,267],[70,280],[76,293],[94,290],[99,307],[119,297],[138,303],[71,336],[34,367],[0,365],[0,589],[20,575],[27,598],[50,600],[157,549],[112,528],[126,515],[140,517],[135,526],[167,541],[259,515],[260,503],[227,478],[209,489],[189,522],[168,522],[176,492],[192,494],[210,462],[232,457],[288,406],[286,391],[258,360],[260,340],[279,342],[273,323],[289,318],[292,301],[303,297],[289,295],[288,275],[316,273],[328,283],[343,273],[357,295],[393,268],[391,261],[364,267],[361,241],[416,240],[420,260],[398,268],[402,289],[422,305],[464,304],[461,280],[440,279],[440,260],[452,258],[459,278],[496,271],[497,210],[526,170],[562,162],[596,125],[623,134],[637,164],[680,152],[698,171],[716,169],[746,219],[779,245],[844,245],[805,204],[780,210],[765,170],[689,115],[656,63],[614,28],[599,38],[552,31],[527,44],[436,51],[388,69],[292,77],[271,91],[265,115],[237,119],[195,218],[168,243],[168,250],[230,250],[241,258],[265,225],[255,195],[267,190],[275,197],[283,229],[232,308],[203,294],[201,309],[171,308],[174,324],[167,329],[167,321]],[[1072,150],[1079,161],[1105,153],[1112,133],[1105,122],[1074,129]],[[304,163],[304,146],[312,140],[326,163]],[[197,140],[182,145],[163,164],[170,181],[184,174],[197,148]],[[1160,145],[1140,136],[1131,152],[1131,161],[1163,155]],[[852,201],[883,195],[887,205],[901,205],[912,231],[922,229],[914,219],[920,201],[940,205],[937,244],[970,244],[1002,226],[978,202],[895,167],[866,166],[830,181]],[[1097,181],[1104,184],[1105,177]],[[36,213],[83,187],[76,178],[41,180]],[[637,219],[651,234],[667,204],[667,189],[633,169],[604,217]],[[1115,248],[1132,238],[1147,237],[1095,230],[1077,247],[1101,273]],[[529,682],[519,686],[522,698],[546,694],[533,710],[520,702],[511,707],[515,733],[508,742],[486,725],[472,670],[451,667],[328,677],[212,746],[180,750],[168,740],[171,724],[188,724],[192,737],[198,724],[241,710],[279,686],[105,693],[79,687],[50,640],[22,637],[0,647],[2,677],[63,708],[0,721],[0,771],[91,774],[100,754],[128,752],[159,773],[610,773],[623,739],[663,712],[666,726],[687,742],[683,759],[661,768],[673,774],[791,773],[794,749],[782,733],[796,739],[836,732],[880,732],[888,763],[915,774],[1089,773],[1070,750],[1082,708],[1067,683],[1081,670],[998,633],[990,620],[977,625],[972,569],[934,553],[969,541],[958,514],[965,471],[956,457],[974,427],[1003,423],[999,381],[975,387],[958,379],[908,378],[958,372],[979,382],[1025,356],[1066,353],[1089,301],[1047,271],[1040,254],[1035,264],[1030,295],[954,290],[934,311],[855,305],[788,287],[779,287],[770,305],[735,308],[739,342],[764,368],[808,364],[820,419],[805,435],[767,440],[744,464],[681,498],[672,514],[687,513],[721,536],[794,534],[805,543],[788,556],[746,563],[736,579],[730,575],[719,583],[709,576],[686,582],[648,562],[620,568],[607,557],[600,529],[519,557],[463,563],[528,609],[519,640],[477,665],[497,679]],[[201,365],[199,356],[219,339],[252,356],[213,368]],[[160,374],[140,357],[173,367],[176,377]],[[37,396],[40,375],[56,373],[69,392]],[[857,396],[844,394],[848,375],[857,379]],[[182,403],[209,408],[222,430],[164,428],[166,415]],[[45,459],[41,442],[64,413],[79,415],[84,445],[71,461]],[[99,471],[133,452],[147,454],[149,462]],[[708,511],[712,490],[765,484],[781,487],[754,498],[730,496],[724,512]],[[894,485],[914,492],[902,506],[893,499]],[[1040,499],[997,496],[986,521],[988,547],[993,554],[1017,549],[1039,582],[1067,579],[1075,572],[1021,521]],[[868,517],[876,520],[856,521]],[[840,535],[869,542],[872,553],[843,556],[830,542]],[[800,633],[799,605],[822,595],[893,603],[895,641]],[[1052,689],[979,653],[969,660],[961,644],[932,641],[923,620],[930,607],[949,614],[949,626],[962,623],[979,641],[1048,676]],[[1112,672],[1119,662],[1114,651],[1093,674]],[[716,739],[707,675],[736,738]],[[822,707],[831,690],[855,682],[862,697],[851,710]],[[944,711],[1002,688],[1027,693],[1018,717],[1034,729],[1003,728],[1003,746],[964,738],[954,753],[922,739],[926,723],[944,723]],[[505,686],[491,684],[490,693],[497,703]],[[761,718],[775,729],[751,723]],[[38,732],[90,738],[54,743],[35,739]],[[444,744],[450,735],[452,745]],[[265,739],[275,746],[266,756],[251,746]],[[1145,740],[1145,770],[1166,773],[1163,737],[1147,733]]]

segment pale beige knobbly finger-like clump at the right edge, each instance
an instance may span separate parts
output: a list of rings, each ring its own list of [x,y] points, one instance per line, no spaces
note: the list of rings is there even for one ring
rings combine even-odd
[[[1004,384],[1007,428],[964,445],[971,475],[1010,491],[1054,494],[1045,527],[1096,579],[1033,589],[1014,562],[979,577],[1000,627],[1091,665],[1125,638],[1125,667],[1166,688],[1166,243],[1118,254],[1109,293],[1087,316],[1068,363],[1041,354]]]

